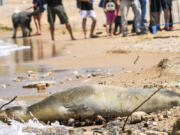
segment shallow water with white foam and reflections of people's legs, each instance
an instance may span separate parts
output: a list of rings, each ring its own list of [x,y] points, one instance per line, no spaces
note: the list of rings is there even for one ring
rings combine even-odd
[[[0,40],[0,65],[20,64],[60,55],[63,45],[52,45],[39,39]]]

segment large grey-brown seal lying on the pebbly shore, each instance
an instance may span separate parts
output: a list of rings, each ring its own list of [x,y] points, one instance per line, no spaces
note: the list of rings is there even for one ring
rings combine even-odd
[[[43,122],[126,116],[155,90],[106,85],[85,85],[57,92],[29,107],[20,106],[0,111],[0,120],[13,118],[28,121],[33,117]],[[161,90],[139,111],[152,112],[180,105],[180,94]]]

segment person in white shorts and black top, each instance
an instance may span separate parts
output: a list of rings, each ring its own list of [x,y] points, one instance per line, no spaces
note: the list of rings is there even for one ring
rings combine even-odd
[[[96,38],[97,36],[94,35],[94,29],[96,27],[96,14],[93,9],[93,1],[92,0],[80,0],[81,4],[81,10],[80,10],[80,15],[82,18],[82,28],[84,32],[84,38],[87,38],[87,29],[86,29],[86,22],[87,18],[90,17],[92,19],[92,24],[91,24],[91,31],[90,31],[90,38]]]

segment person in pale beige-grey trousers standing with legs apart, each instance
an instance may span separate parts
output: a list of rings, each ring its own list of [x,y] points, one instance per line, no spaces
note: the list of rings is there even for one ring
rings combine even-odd
[[[135,22],[135,31],[136,33],[140,33],[141,29],[141,8],[139,0],[121,0],[120,10],[121,10],[121,21],[122,21],[122,32],[123,37],[126,37],[128,34],[128,26],[127,26],[127,15],[129,8],[132,6],[134,13],[134,22]]]

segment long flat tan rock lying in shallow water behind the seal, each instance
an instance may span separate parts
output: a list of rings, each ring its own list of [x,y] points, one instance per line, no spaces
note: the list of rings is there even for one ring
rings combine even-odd
[[[56,85],[56,81],[38,81],[38,82],[32,82],[29,84],[26,84],[23,86],[23,88],[38,88],[41,89],[44,86],[45,87],[50,87]]]

